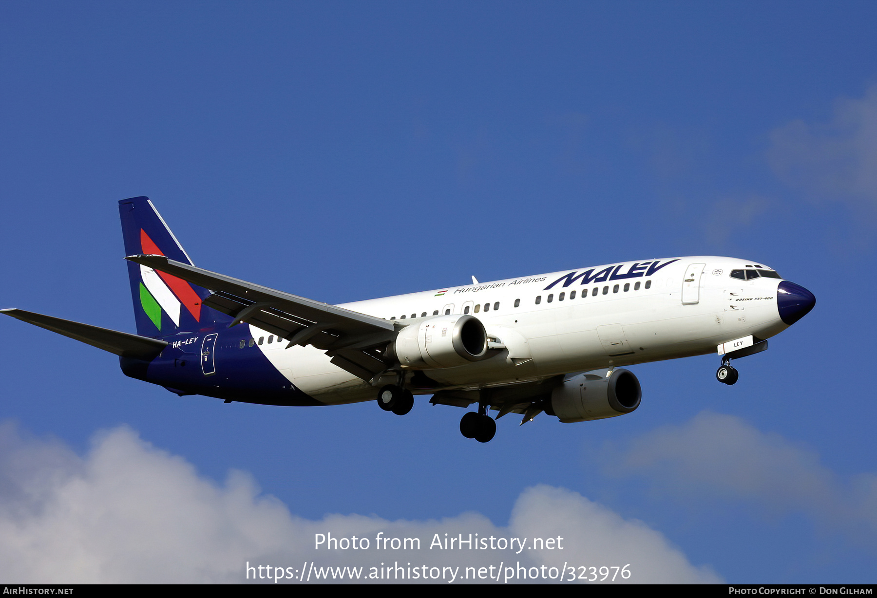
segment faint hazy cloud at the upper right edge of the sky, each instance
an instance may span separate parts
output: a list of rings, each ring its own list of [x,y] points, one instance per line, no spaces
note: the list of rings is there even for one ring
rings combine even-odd
[[[768,160],[783,182],[812,198],[877,204],[877,85],[838,99],[829,123],[795,120],[770,137]]]

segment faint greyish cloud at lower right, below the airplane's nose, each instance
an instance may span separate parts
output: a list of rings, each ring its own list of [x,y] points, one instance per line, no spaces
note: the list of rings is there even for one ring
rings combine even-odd
[[[681,500],[748,500],[774,514],[803,513],[826,529],[873,545],[877,476],[842,481],[816,453],[734,416],[704,411],[608,457],[617,474],[638,473]]]

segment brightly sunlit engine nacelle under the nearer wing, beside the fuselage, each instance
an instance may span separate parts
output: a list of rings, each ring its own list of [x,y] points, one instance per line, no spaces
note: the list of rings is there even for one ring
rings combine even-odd
[[[427,317],[399,331],[387,351],[403,367],[462,366],[487,357],[488,333],[474,316]]]

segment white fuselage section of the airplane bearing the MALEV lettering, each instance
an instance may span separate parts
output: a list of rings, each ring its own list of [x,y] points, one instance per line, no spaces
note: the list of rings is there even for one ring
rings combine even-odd
[[[446,313],[481,319],[502,351],[487,360],[424,373],[441,388],[487,388],[716,352],[717,345],[747,335],[772,337],[788,327],[777,310],[780,279],[730,276],[732,269],[752,264],[715,256],[642,260],[340,307],[400,325]],[[254,326],[251,331],[253,338],[268,334]],[[284,347],[260,345],[289,381],[318,401],[374,400],[374,387],[333,366],[323,351],[310,345]]]

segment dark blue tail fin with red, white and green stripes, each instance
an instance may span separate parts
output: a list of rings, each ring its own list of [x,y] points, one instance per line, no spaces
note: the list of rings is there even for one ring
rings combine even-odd
[[[118,211],[122,217],[125,255],[166,255],[194,266],[148,197],[123,199],[118,203]],[[165,337],[232,321],[231,317],[202,305],[210,295],[206,288],[132,262],[128,262],[128,279],[139,335]]]

